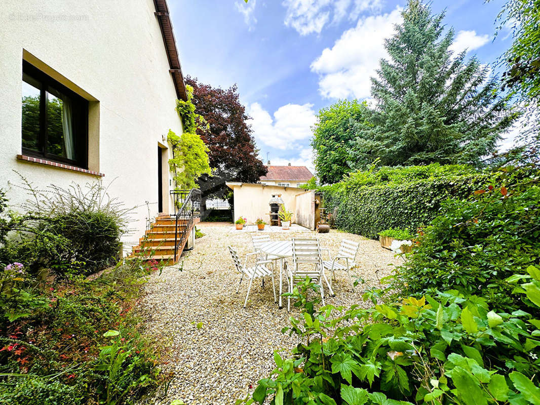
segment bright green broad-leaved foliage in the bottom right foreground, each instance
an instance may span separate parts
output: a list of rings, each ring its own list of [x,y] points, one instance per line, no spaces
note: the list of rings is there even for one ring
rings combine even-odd
[[[242,402],[262,404],[269,396],[271,404],[537,404],[540,320],[531,314],[540,310],[540,290],[528,285],[540,286],[540,270],[516,276],[522,277],[534,280],[521,286],[530,313],[496,313],[483,298],[457,291],[316,312],[317,302],[306,299],[316,286],[306,280],[293,292],[302,318],[284,329],[301,340],[293,357],[274,352],[272,377]]]

